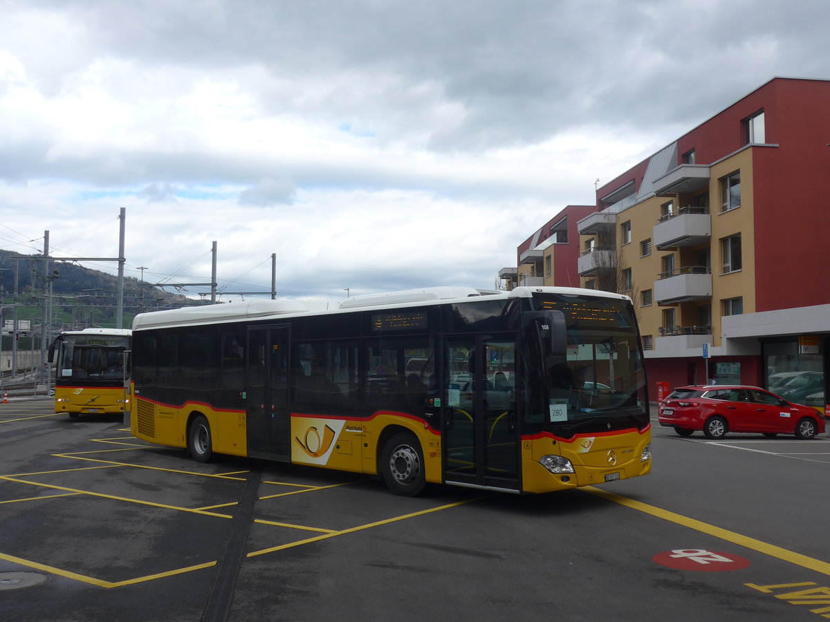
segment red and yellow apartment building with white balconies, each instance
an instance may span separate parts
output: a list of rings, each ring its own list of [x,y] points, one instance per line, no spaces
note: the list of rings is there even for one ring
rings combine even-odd
[[[598,187],[576,223],[577,271],[634,301],[652,399],[657,382],[788,397],[776,383],[789,381],[792,401],[825,405],[828,181],[830,80],[774,78]],[[539,247],[519,247],[519,279]],[[574,284],[552,261],[544,284]]]

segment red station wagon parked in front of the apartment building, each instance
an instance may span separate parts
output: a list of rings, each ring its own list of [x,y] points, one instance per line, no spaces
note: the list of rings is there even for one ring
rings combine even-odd
[[[821,413],[786,401],[758,386],[678,386],[660,403],[660,425],[681,436],[703,430],[707,439],[727,432],[794,434],[812,439],[824,431]]]

